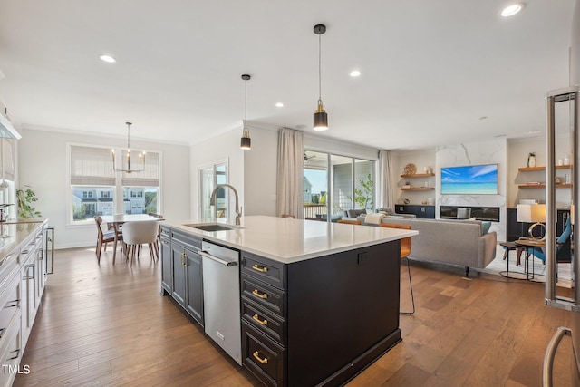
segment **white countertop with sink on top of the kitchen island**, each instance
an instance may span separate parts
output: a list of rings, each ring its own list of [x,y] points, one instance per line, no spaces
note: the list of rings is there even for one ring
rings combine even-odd
[[[162,225],[286,264],[419,234],[414,230],[265,216],[243,217],[240,226],[218,221],[218,224],[236,227],[227,231],[202,231],[185,226],[200,223],[207,222],[168,219]]]

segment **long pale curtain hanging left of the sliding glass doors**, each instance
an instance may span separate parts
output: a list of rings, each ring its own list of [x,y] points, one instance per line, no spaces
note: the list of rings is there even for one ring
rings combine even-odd
[[[276,213],[303,218],[304,133],[291,129],[278,132]]]

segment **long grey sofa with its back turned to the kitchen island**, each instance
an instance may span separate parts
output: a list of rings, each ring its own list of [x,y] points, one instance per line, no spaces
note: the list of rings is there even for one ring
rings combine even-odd
[[[359,217],[361,223],[364,218]],[[411,258],[449,265],[484,268],[496,257],[498,236],[488,231],[490,222],[479,220],[382,218],[382,223],[410,225],[419,235],[412,237]]]

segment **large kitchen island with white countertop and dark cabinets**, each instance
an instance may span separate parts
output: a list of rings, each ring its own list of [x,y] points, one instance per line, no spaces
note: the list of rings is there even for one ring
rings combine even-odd
[[[230,355],[266,385],[340,385],[401,341],[399,240],[416,231],[263,216],[202,223],[161,225],[162,293],[203,326],[216,279],[203,276],[202,244],[237,251],[241,358]]]

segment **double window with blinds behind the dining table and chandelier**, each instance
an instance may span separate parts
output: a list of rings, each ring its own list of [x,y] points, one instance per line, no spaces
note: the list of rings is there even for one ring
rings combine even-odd
[[[113,171],[111,149],[70,145],[69,152],[70,223],[95,215],[160,213],[160,153],[147,153],[143,171],[125,173]]]

